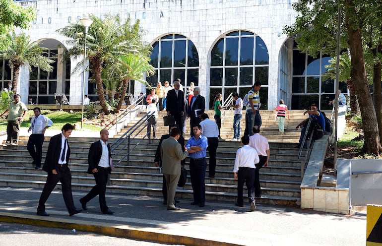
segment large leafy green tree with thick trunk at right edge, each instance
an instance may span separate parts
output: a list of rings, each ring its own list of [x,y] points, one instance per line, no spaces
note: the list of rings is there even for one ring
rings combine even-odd
[[[365,43],[366,36],[370,37],[370,33],[373,33],[370,28],[375,29],[379,24],[379,29],[381,29],[382,2],[374,0],[299,0],[293,4],[293,7],[300,15],[297,16],[293,25],[284,28],[284,32],[295,36],[299,49],[307,51],[312,56],[322,50],[323,53],[334,57],[337,46],[338,8],[343,10],[340,48],[341,50],[348,48],[350,51],[350,76],[354,83],[364,123],[365,141],[362,151],[379,155],[382,151],[380,142],[380,139],[382,140],[380,138],[382,122],[377,123],[376,108],[369,92],[365,66],[365,62],[369,60],[365,59],[364,50],[370,50]],[[372,23],[375,24],[372,25]],[[363,34],[369,35],[363,36]],[[381,86],[381,79],[379,86]],[[380,128],[378,128],[379,125]]]

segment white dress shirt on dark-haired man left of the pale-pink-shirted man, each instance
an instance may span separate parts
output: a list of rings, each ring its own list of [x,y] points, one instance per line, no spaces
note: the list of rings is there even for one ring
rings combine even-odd
[[[234,173],[239,171],[239,168],[256,168],[255,164],[260,161],[257,151],[246,144],[236,151]]]

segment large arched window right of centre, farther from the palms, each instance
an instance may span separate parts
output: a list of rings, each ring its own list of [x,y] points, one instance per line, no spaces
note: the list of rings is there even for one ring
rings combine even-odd
[[[254,33],[235,31],[219,39],[211,51],[209,108],[218,93],[223,100],[232,92],[243,98],[259,81],[261,109],[267,109],[268,66],[268,49]]]

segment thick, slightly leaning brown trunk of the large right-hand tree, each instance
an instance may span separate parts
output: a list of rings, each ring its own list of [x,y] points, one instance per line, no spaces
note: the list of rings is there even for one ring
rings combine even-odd
[[[368,80],[366,76],[361,29],[357,23],[355,23],[355,19],[357,17],[353,0],[346,0],[345,19],[352,64],[350,75],[356,88],[357,98],[360,104],[363,130],[365,133],[365,141],[362,147],[362,152],[379,155],[380,151],[382,151],[382,147],[377,128],[376,111],[369,92]]]

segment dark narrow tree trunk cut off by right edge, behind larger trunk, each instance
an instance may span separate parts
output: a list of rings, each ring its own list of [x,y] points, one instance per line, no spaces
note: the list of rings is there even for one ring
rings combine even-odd
[[[382,47],[381,45],[377,46],[376,49],[373,49],[374,57],[377,57],[378,54],[381,54]],[[380,142],[382,140],[382,87],[381,87],[381,62],[374,64],[373,66],[373,98],[374,98],[374,107],[376,109],[378,131],[380,135]]]

